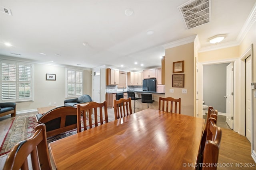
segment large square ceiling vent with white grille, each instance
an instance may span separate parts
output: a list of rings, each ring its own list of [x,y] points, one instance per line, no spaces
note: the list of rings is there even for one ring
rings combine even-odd
[[[178,7],[186,29],[211,21],[212,0],[190,0]]]

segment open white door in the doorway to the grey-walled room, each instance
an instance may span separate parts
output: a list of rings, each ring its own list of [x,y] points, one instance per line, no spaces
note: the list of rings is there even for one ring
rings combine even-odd
[[[233,129],[233,88],[234,88],[234,71],[233,71],[233,63],[228,64],[227,70],[227,87],[226,87],[226,122],[229,127]]]

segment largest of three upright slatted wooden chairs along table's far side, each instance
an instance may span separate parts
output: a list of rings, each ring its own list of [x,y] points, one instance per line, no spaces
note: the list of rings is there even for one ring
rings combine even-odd
[[[104,107],[104,109],[103,109]],[[97,103],[97,102],[90,102],[86,105],[79,104],[77,105],[77,132],[81,132],[81,116],[83,117],[83,124],[84,124],[84,130],[87,130],[87,123],[86,123],[86,113],[88,114],[88,121],[89,121],[89,128],[92,128],[92,125],[98,126],[98,123],[100,125],[103,125],[103,110],[104,110],[104,118],[105,123],[108,123],[108,108],[107,108],[107,101],[104,101],[103,103]],[[98,111],[100,116],[100,122],[98,122]],[[94,114],[94,122],[92,121],[92,115]]]

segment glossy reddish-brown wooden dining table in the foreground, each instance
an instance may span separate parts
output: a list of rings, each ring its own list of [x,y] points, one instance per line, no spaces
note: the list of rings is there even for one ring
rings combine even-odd
[[[195,169],[204,119],[145,109],[49,143],[58,170]]]

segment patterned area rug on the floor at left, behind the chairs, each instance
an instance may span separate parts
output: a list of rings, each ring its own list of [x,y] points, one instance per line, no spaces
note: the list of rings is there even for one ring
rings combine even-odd
[[[94,122],[94,115],[92,115],[92,122]],[[86,125],[88,125],[88,124],[89,124],[88,117],[86,117]],[[36,122],[36,118],[35,118],[34,114],[24,115],[24,116],[16,116],[13,119],[13,121],[10,125],[10,128],[4,138],[4,141],[0,147],[0,155],[10,152],[12,147],[14,147],[14,145],[16,145],[18,142],[31,137],[35,133],[36,125],[38,125],[38,123]],[[83,130],[84,125],[83,125],[82,118],[81,118],[81,127]],[[87,129],[88,128],[89,127],[87,127]],[[73,135],[75,133],[77,133],[77,131],[76,131],[76,129],[73,129],[71,131],[67,131],[65,133],[61,133],[61,134],[53,136],[53,137],[48,137],[47,142],[50,143],[52,141],[56,141],[58,139]]]

